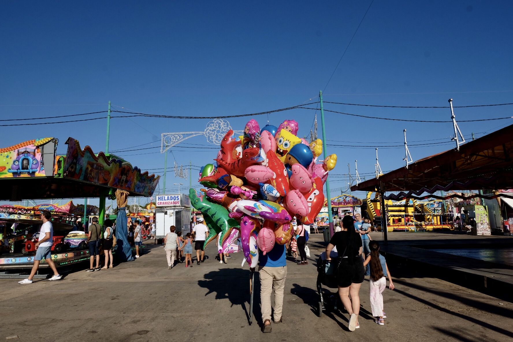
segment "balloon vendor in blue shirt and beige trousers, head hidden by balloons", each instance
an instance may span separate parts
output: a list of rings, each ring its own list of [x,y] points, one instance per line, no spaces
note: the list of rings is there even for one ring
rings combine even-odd
[[[283,292],[287,277],[285,246],[274,244],[265,255],[259,250],[260,303],[262,332],[271,332],[271,293],[274,290],[273,322],[282,323]]]

